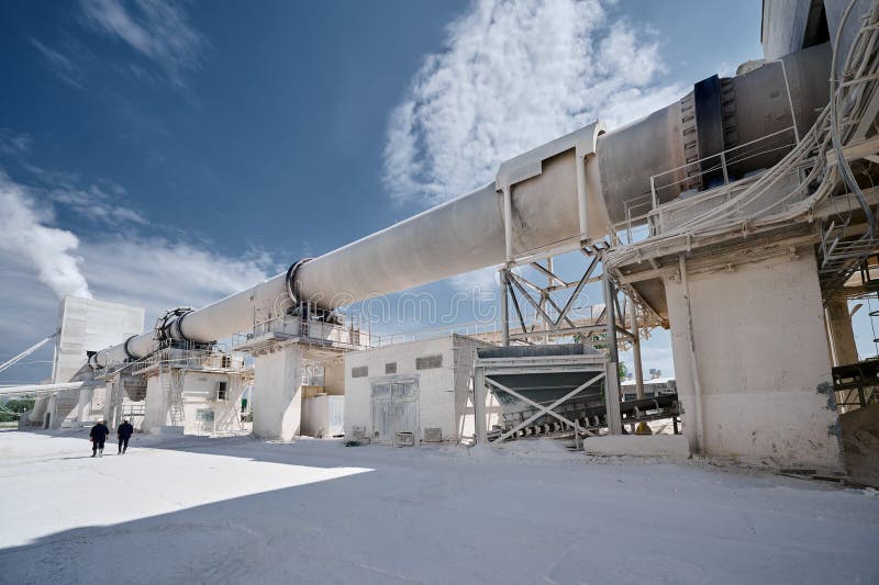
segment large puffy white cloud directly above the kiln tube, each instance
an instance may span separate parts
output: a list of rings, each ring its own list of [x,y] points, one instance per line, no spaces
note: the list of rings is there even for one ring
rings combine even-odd
[[[599,0],[475,2],[390,116],[386,187],[435,204],[598,117],[614,127],[679,99],[685,89],[657,81],[658,45],[645,38],[609,22]]]

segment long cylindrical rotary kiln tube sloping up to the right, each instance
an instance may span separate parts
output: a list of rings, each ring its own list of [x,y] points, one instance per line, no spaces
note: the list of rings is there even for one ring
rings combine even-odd
[[[813,123],[817,109],[827,102],[823,80],[830,69],[830,55],[825,44],[786,56],[783,66],[768,61],[735,78],[714,76],[697,83],[693,92],[679,102],[596,136],[593,156],[586,157],[589,237],[601,238],[610,225],[642,215],[653,194],[652,177],[658,173],[678,169],[660,177],[660,187],[672,184],[657,193],[661,203],[716,181],[712,175],[716,170],[711,170],[715,162],[705,161],[705,157],[794,124],[802,134]],[[581,236],[578,153],[572,146],[547,150],[559,143],[567,144],[565,138],[533,150],[536,158],[525,160],[524,175],[511,180],[513,255]],[[775,144],[765,146],[768,153],[731,165],[732,178],[766,168],[785,154]],[[503,198],[498,184],[490,183],[302,263],[296,273],[296,295],[321,307],[335,308],[502,263],[505,248]],[[173,317],[167,322],[166,335],[213,341],[281,315],[289,303],[287,274],[278,274],[203,308]],[[91,363],[103,367],[142,358],[154,347],[155,331],[147,331],[99,351]]]

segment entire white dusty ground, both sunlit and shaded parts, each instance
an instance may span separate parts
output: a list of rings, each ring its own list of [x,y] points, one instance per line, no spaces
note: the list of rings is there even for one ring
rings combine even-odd
[[[0,432],[0,582],[879,583],[872,491],[552,441],[82,437]]]

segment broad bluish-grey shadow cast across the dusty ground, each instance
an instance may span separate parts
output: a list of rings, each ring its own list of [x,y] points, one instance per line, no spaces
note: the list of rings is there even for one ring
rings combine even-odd
[[[661,468],[648,485],[632,465],[410,459],[412,450],[319,445],[219,439],[174,449],[374,471],[59,531],[1,550],[0,582],[879,581],[875,508],[859,508],[860,522],[827,514],[814,530],[808,507],[785,508],[806,491],[743,499],[699,470],[678,481],[680,470]],[[174,482],[163,497],[183,488]],[[742,480],[738,490],[758,484]],[[110,486],[82,505],[114,496]]]

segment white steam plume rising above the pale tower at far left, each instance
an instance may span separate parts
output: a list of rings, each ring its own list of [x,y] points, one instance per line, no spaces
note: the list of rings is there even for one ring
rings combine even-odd
[[[0,171],[0,250],[27,258],[40,281],[58,297],[65,294],[91,297],[74,251],[79,239],[70,232],[51,227],[51,214]]]

